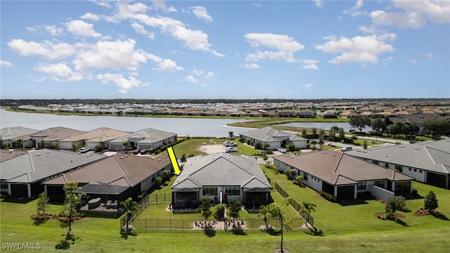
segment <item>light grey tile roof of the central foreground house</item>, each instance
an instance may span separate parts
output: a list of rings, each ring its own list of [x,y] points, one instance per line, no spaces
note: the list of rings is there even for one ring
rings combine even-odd
[[[257,179],[257,180],[253,180]],[[248,186],[270,188],[269,181],[255,157],[216,153],[191,157],[172,189],[202,186]]]

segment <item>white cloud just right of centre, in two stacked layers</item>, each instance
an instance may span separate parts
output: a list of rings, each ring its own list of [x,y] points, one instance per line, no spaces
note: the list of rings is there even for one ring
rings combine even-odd
[[[304,45],[298,43],[293,38],[283,34],[245,34],[245,39],[255,48],[274,48],[276,51],[257,51],[248,53],[246,60],[283,60],[287,63],[295,62],[294,54],[296,51],[304,49]]]

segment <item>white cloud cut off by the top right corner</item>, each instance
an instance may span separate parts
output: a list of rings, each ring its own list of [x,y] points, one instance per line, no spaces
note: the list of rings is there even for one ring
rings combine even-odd
[[[444,24],[450,22],[450,1],[392,1],[397,12],[373,11],[375,25],[418,28],[427,22]]]

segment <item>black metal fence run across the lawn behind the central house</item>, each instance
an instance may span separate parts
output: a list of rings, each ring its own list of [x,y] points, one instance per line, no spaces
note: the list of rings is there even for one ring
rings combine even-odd
[[[293,230],[306,228],[302,218],[291,218],[290,227]],[[126,223],[125,223],[126,224]],[[173,231],[222,231],[240,233],[245,231],[269,231],[281,229],[278,219],[269,219],[268,226],[264,219],[236,219],[226,221],[194,220],[194,219],[133,219],[131,226],[136,232],[155,233]]]

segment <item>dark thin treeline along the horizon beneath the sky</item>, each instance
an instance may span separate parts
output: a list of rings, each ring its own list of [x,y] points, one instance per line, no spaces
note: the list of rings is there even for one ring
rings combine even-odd
[[[449,98],[320,98],[320,99],[282,99],[282,98],[262,98],[262,99],[136,99],[136,98],[112,98],[112,99],[98,99],[98,98],[74,98],[74,99],[0,99],[1,106],[19,106],[19,105],[34,105],[46,107],[52,104],[89,104],[89,105],[103,105],[113,103],[129,103],[129,104],[170,104],[170,103],[326,103],[326,102],[387,102],[399,103],[401,101],[409,102],[410,105],[450,105]],[[443,103],[444,102],[444,103]]]

